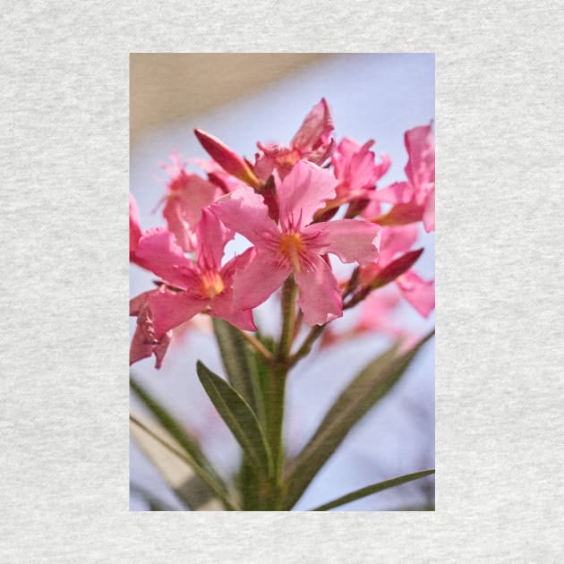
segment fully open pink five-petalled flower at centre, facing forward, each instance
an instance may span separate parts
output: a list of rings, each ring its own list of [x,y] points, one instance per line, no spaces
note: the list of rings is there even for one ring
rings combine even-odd
[[[325,255],[332,252],[344,262],[374,261],[380,227],[356,219],[312,224],[315,211],[335,197],[336,184],[328,170],[301,160],[278,187],[278,224],[261,195],[246,187],[211,206],[227,227],[255,245],[252,261],[235,274],[235,303],[241,308],[267,300],[293,273],[306,323],[322,325],[343,314],[338,281]]]

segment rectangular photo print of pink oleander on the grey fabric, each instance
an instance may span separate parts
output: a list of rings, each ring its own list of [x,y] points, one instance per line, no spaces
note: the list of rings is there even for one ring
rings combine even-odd
[[[130,56],[130,510],[430,511],[434,56]]]

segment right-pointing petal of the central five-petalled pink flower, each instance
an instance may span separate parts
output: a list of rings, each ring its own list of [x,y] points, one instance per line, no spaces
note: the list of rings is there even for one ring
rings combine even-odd
[[[363,219],[338,219],[313,223],[303,228],[303,234],[319,233],[327,242],[323,252],[334,253],[343,262],[366,264],[378,258],[380,230],[380,226]]]

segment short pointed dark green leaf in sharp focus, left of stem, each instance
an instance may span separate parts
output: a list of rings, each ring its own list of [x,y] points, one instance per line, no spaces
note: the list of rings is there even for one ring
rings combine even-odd
[[[249,462],[261,472],[270,475],[272,459],[269,446],[251,406],[226,380],[211,372],[200,361],[196,364],[196,372],[209,399],[241,445]]]

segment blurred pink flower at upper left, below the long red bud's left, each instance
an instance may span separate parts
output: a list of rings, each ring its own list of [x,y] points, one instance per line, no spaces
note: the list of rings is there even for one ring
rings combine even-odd
[[[184,251],[192,252],[196,247],[195,228],[200,221],[201,210],[215,201],[222,191],[201,176],[188,173],[175,153],[171,155],[171,160],[172,165],[163,165],[170,175],[163,216],[176,242]]]

